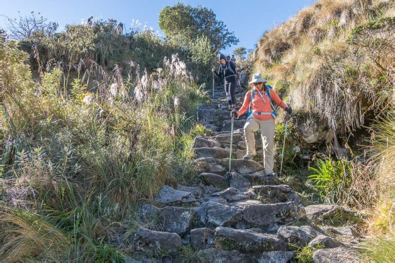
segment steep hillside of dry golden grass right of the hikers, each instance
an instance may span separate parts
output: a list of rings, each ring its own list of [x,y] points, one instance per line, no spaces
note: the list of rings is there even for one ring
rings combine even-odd
[[[394,37],[395,2],[322,0],[266,32],[254,56],[255,69],[296,110],[294,144],[373,164],[364,201],[375,210],[370,230],[384,233],[395,225]]]

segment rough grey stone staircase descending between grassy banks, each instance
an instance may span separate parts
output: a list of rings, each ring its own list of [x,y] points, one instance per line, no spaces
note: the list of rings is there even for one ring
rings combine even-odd
[[[238,104],[244,94],[245,90],[237,93]],[[295,246],[322,243],[325,249],[315,252],[314,262],[354,262],[357,255],[350,243],[333,238],[340,231],[338,235],[356,242],[352,229],[328,231],[312,223],[333,214],[338,206],[304,207],[292,187],[264,176],[259,154],[254,160],[241,159],[246,152],[245,119],[234,123],[228,171],[231,120],[222,96],[223,87],[217,86],[214,98],[219,99],[202,103],[197,111],[199,122],[212,130],[212,136],[198,136],[193,144],[201,183],[176,189],[165,185],[143,205],[140,220],[145,227],[135,233],[134,249],[152,257],[165,254],[163,262],[179,262],[172,255],[182,247],[192,247],[202,262],[295,262]],[[261,153],[260,138],[256,141]]]

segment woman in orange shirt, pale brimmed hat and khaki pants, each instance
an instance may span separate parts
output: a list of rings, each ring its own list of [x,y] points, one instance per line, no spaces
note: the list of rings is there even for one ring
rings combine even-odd
[[[246,93],[241,108],[232,111],[232,115],[239,118],[248,110],[248,118],[244,124],[245,144],[247,146],[247,154],[244,160],[250,160],[255,156],[255,137],[254,133],[261,130],[263,143],[263,163],[265,167],[265,175],[273,176],[274,156],[274,128],[275,118],[277,117],[273,105],[275,102],[287,114],[292,113],[291,106],[287,106],[277,95],[276,91],[270,85],[266,85],[267,80],[262,78],[261,73],[256,73],[252,81],[249,82],[253,86],[253,90]]]

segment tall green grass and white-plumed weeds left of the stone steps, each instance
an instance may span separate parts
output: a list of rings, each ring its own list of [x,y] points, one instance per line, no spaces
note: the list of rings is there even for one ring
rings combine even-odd
[[[174,178],[196,178],[190,130],[206,132],[193,121],[202,87],[176,54],[142,77],[138,65],[123,80],[118,66],[107,73],[80,61],[77,72],[42,67],[36,82],[26,55],[0,44],[1,260],[122,261],[140,200]]]

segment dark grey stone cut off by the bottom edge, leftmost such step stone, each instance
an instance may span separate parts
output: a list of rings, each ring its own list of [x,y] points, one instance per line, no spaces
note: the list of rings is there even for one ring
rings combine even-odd
[[[240,253],[239,251],[222,251],[220,249],[210,248],[199,251],[203,256],[203,263],[255,263],[257,262],[252,256]]]

